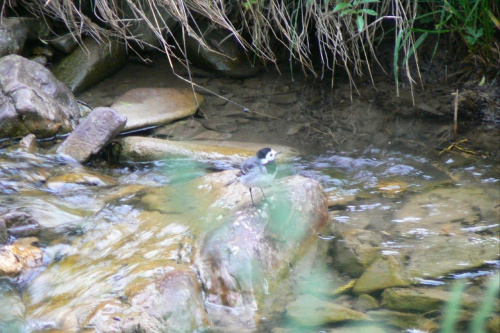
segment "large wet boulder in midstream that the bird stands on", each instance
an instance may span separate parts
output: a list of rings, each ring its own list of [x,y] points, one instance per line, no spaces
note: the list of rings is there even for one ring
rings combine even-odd
[[[224,185],[219,179],[212,189]],[[328,220],[326,196],[315,180],[292,176],[275,185],[266,190],[267,202],[254,198],[256,206],[249,198],[241,202],[242,185],[225,188],[214,203],[225,205],[234,200],[233,191],[239,193],[240,204],[202,241],[195,259],[207,311],[221,326],[255,328],[262,286],[272,290]]]

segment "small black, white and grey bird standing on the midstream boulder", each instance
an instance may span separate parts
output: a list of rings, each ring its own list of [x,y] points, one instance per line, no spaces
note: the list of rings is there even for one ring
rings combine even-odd
[[[276,176],[276,163],[274,162],[274,159],[279,153],[279,151],[274,151],[271,148],[262,148],[257,152],[257,154],[255,154],[255,156],[252,156],[243,162],[240,172],[238,173],[238,177],[231,180],[225,186],[239,181],[241,184],[248,187],[250,190],[252,205],[254,204],[252,188],[260,188],[262,195],[266,198],[262,188],[271,185],[271,182]]]

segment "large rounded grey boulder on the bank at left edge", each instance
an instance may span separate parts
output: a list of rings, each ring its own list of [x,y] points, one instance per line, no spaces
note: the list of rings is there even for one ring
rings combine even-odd
[[[0,137],[67,133],[79,116],[71,91],[45,67],[17,55],[0,59]]]

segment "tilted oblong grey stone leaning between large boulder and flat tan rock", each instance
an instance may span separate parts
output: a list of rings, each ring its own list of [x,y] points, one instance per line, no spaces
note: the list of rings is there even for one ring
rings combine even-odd
[[[57,153],[85,163],[125,126],[127,118],[111,108],[95,108],[57,148]]]

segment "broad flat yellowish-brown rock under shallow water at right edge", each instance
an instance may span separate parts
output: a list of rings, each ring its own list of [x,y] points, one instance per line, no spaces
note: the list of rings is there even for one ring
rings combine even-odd
[[[415,278],[438,278],[497,260],[497,204],[498,192],[480,188],[438,188],[411,197],[393,220],[403,236],[398,251],[407,258],[405,270]]]

